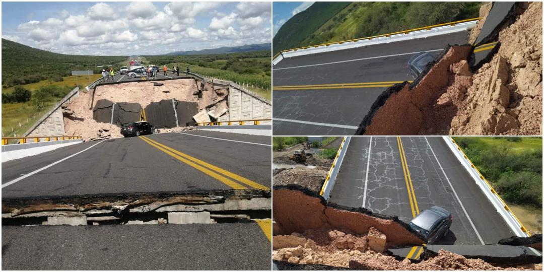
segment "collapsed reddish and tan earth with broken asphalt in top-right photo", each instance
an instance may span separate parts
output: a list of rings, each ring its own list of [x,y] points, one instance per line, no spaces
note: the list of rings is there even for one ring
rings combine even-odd
[[[541,17],[540,2],[494,3],[474,45],[446,47],[414,82],[384,91],[356,134],[542,134]]]

